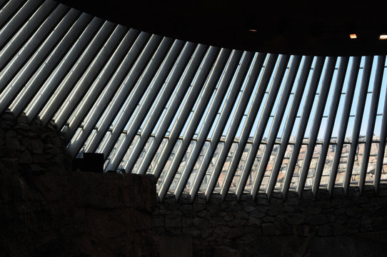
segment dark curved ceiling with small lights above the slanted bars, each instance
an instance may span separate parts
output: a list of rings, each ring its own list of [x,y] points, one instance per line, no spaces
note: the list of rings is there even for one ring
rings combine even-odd
[[[59,1],[134,29],[213,46],[278,54],[387,54],[387,40],[378,39],[387,34],[384,1]]]

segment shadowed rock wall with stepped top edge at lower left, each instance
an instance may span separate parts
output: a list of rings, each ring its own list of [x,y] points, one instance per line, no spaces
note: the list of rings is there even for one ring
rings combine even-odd
[[[0,256],[157,256],[153,176],[71,171],[54,124],[0,120]]]

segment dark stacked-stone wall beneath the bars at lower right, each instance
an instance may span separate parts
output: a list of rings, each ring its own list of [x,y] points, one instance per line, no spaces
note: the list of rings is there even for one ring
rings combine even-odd
[[[387,188],[379,196],[367,188],[359,196],[351,188],[344,198],[321,191],[318,199],[305,191],[286,201],[275,194],[253,201],[251,196],[213,195],[206,203],[183,196],[159,203],[153,226],[160,236],[192,238],[194,256],[387,256]]]

